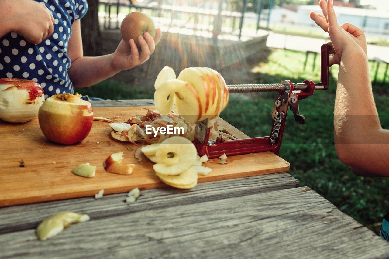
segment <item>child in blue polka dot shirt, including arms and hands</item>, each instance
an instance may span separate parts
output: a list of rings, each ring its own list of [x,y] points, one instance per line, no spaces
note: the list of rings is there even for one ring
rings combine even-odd
[[[1,0],[0,10],[7,14],[0,16],[0,78],[34,80],[45,98],[143,64],[161,39],[158,28],[155,39],[138,37],[140,51],[133,39],[121,40],[112,54],[85,57],[80,19],[86,0]]]

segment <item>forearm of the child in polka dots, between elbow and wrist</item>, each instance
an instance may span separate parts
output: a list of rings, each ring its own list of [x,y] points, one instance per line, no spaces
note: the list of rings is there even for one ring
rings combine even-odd
[[[80,57],[72,61],[68,74],[73,85],[91,86],[120,72],[112,66],[112,56]]]

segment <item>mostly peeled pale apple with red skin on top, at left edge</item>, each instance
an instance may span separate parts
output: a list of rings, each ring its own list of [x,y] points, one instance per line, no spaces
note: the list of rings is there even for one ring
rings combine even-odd
[[[12,123],[30,121],[45,100],[40,85],[32,80],[0,79],[0,119]]]

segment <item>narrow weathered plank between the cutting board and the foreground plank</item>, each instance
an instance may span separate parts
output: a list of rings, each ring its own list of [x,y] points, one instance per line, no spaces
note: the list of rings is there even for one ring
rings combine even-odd
[[[94,219],[102,219],[134,211],[170,208],[297,186],[298,181],[288,173],[277,173],[207,182],[198,184],[190,190],[175,188],[145,190],[141,192],[142,196],[138,198],[138,202],[131,206],[123,202],[125,194],[112,194],[100,200],[87,197],[0,208],[0,233],[36,228],[43,219],[61,211],[83,212]]]

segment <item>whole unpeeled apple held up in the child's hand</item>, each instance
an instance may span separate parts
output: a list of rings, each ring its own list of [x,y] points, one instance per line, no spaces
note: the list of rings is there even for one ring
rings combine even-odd
[[[150,33],[151,37],[155,37],[156,29],[150,16],[143,12],[130,12],[124,17],[120,26],[120,34],[124,42],[130,44],[130,39],[133,39],[137,47],[140,48],[138,36],[143,36],[145,32]]]

